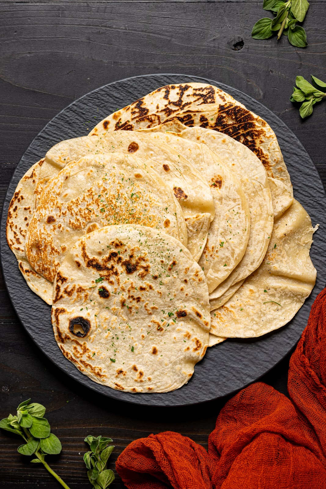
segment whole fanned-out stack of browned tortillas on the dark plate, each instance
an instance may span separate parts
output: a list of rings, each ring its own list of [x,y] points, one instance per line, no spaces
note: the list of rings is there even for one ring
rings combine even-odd
[[[228,337],[286,324],[316,280],[275,134],[205,84],[155,90],[23,176],[7,241],[96,382],[167,392]]]

